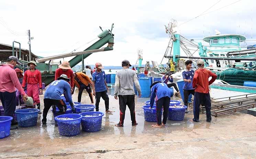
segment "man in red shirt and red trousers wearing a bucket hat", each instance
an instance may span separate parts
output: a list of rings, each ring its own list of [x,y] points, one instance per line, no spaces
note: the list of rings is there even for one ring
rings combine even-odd
[[[29,70],[24,72],[24,77],[22,81],[22,88],[25,89],[27,84],[27,95],[33,98],[34,104],[37,105],[37,109],[40,110],[40,99],[39,99],[39,92],[42,94],[42,77],[41,72],[35,68],[36,62],[30,61],[27,63],[29,66]],[[39,87],[38,87],[39,86]],[[38,114],[42,114],[41,110]]]

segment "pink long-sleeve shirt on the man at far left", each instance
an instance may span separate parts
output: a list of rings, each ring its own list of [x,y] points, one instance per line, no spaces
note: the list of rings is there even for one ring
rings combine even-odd
[[[0,92],[15,92],[17,88],[21,95],[24,95],[25,92],[21,87],[19,79],[15,70],[11,64],[2,64],[0,66]]]

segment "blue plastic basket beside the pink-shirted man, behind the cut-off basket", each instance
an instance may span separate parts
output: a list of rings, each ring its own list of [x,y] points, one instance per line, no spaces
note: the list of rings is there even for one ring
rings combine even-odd
[[[32,127],[37,123],[39,109],[15,110],[19,127]]]

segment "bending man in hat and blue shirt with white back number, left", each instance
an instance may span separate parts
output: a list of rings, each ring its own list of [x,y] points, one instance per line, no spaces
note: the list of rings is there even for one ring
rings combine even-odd
[[[72,108],[72,112],[76,113],[74,103],[71,98],[71,89],[70,84],[68,83],[70,79],[67,77],[67,75],[62,74],[60,77],[57,78],[57,80],[53,81],[51,84],[49,84],[49,87],[46,89],[44,94],[44,110],[43,110],[43,119],[42,123],[46,124],[46,117],[49,109],[51,106],[53,107],[53,112],[56,111],[56,106],[58,107],[59,111],[56,113],[56,115],[62,115],[65,114],[67,110],[66,103],[62,100],[61,95],[66,92],[69,104]],[[66,99],[67,99],[66,98]],[[57,127],[57,123],[55,122],[55,126]]]

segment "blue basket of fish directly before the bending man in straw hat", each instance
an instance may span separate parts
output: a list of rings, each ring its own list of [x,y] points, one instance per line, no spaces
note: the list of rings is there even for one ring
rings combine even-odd
[[[58,118],[73,118],[70,120],[60,120]],[[75,136],[80,134],[80,124],[82,116],[80,114],[64,114],[54,118],[57,121],[59,134],[62,136]]]

